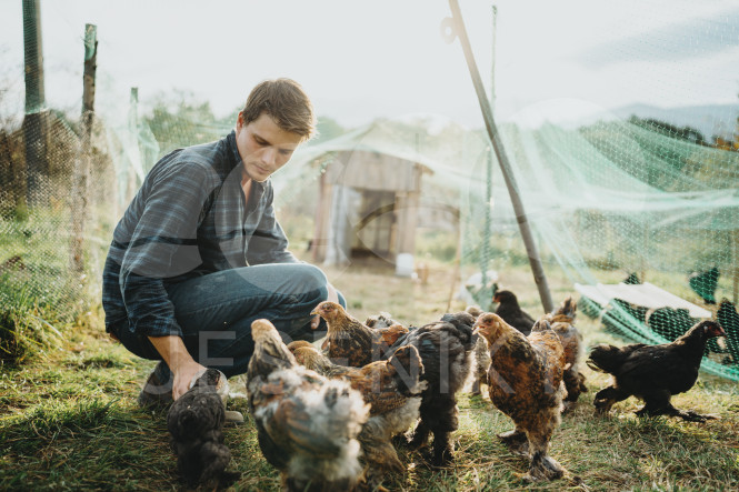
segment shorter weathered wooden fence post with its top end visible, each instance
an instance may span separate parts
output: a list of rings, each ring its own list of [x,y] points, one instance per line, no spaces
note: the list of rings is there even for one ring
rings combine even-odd
[[[79,155],[72,173],[72,238],[70,259],[72,270],[84,270],[84,223],[88,215],[90,161],[92,160],[92,125],[94,123],[94,78],[98,60],[98,31],[84,26],[84,73],[82,74],[82,134]]]

